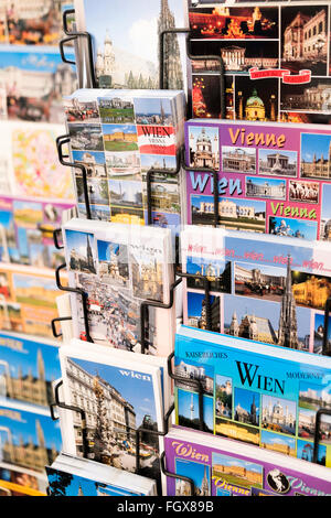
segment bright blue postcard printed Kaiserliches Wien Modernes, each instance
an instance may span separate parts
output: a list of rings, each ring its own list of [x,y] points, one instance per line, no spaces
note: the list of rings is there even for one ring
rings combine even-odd
[[[330,467],[330,373],[327,356],[181,326],[175,423]]]

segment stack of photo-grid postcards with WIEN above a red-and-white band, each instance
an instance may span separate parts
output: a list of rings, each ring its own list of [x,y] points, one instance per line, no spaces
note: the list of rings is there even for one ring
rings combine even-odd
[[[83,90],[65,99],[81,217],[86,217],[82,164],[87,172],[90,217],[135,225],[147,220],[145,180],[153,169],[152,223],[180,225],[180,183],[171,172],[177,170],[183,143],[184,96],[154,91],[142,95],[140,90],[135,96],[135,90],[100,89],[93,95]]]

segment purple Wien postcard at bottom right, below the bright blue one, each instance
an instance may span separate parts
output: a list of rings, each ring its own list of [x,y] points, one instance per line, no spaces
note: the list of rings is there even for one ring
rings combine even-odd
[[[330,470],[221,436],[173,428],[166,436],[168,496],[330,496]],[[194,494],[188,479],[194,484]]]

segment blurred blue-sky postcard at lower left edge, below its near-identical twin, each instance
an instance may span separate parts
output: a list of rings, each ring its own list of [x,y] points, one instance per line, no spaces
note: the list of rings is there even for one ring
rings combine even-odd
[[[51,419],[49,410],[3,400],[0,439],[1,462],[43,474],[62,449],[58,421]]]

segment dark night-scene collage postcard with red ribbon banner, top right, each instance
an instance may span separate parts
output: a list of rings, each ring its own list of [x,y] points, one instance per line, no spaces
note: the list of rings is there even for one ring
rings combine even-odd
[[[185,2],[194,118],[330,122],[329,0]]]

